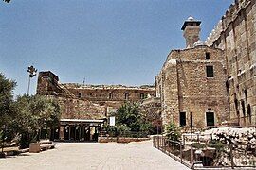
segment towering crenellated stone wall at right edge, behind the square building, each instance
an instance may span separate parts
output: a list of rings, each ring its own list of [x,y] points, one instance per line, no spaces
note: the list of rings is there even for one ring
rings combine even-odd
[[[225,52],[230,120],[256,125],[256,1],[231,4],[206,43]]]

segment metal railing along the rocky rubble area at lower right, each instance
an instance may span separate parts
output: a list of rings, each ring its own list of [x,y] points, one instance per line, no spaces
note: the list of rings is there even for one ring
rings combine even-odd
[[[192,169],[255,169],[256,148],[248,144],[185,144],[154,136],[153,145]]]

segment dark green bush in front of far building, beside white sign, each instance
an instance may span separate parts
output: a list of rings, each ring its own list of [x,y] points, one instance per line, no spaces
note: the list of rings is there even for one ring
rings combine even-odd
[[[138,103],[127,102],[123,104],[115,116],[117,127],[122,126],[120,128],[123,131],[144,132],[147,134],[153,131],[151,122],[146,121],[139,112]]]

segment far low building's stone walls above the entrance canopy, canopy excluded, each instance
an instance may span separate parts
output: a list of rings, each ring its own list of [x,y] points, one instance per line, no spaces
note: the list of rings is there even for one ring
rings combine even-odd
[[[126,101],[155,96],[155,87],[60,83],[58,76],[47,71],[39,73],[37,94],[57,97],[64,106],[63,118],[104,119]]]

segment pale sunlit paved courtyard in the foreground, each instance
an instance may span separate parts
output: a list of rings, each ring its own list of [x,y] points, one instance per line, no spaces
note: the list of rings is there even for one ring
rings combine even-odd
[[[40,154],[0,159],[0,169],[175,169],[187,170],[152,146],[151,141],[130,144],[64,143]]]

